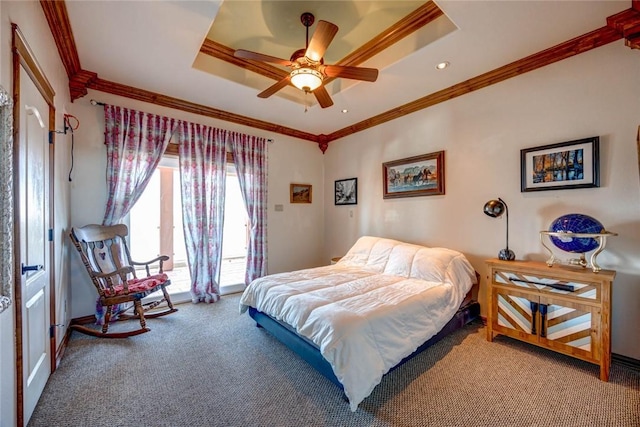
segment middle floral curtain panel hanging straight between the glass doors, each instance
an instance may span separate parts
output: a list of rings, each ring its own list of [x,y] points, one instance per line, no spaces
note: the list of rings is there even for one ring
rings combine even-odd
[[[178,135],[182,222],[191,301],[220,299],[220,265],[226,179],[226,131],[180,123]]]

